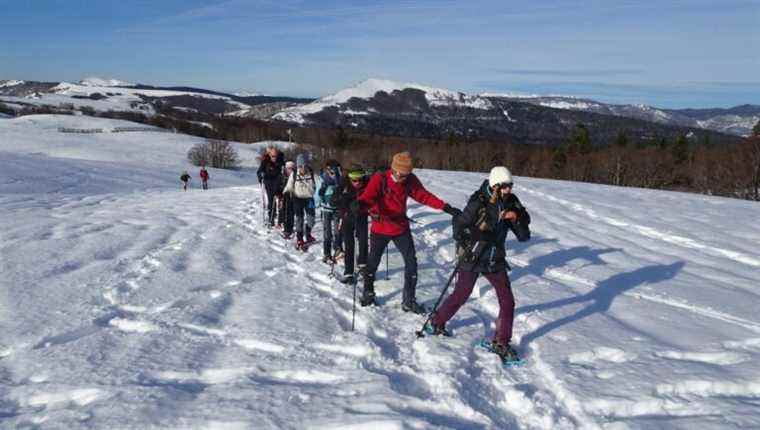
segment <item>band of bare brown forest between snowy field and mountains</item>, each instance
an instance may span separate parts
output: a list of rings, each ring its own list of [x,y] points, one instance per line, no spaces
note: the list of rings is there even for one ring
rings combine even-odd
[[[22,113],[45,112],[33,108]],[[86,112],[125,119],[207,139],[238,142],[288,140],[291,125],[252,118],[171,110],[146,116],[130,112]],[[18,115],[19,112],[16,112]],[[201,122],[210,125],[200,124]],[[625,130],[613,141],[592,145],[589,130],[577,124],[557,147],[505,141],[415,139],[355,133],[341,127],[293,129],[292,139],[317,159],[334,158],[344,166],[386,166],[394,153],[409,150],[417,167],[487,171],[501,164],[516,175],[628,187],[697,192],[760,201],[760,122],[753,136],[738,144],[711,143],[680,135],[633,142]]]

